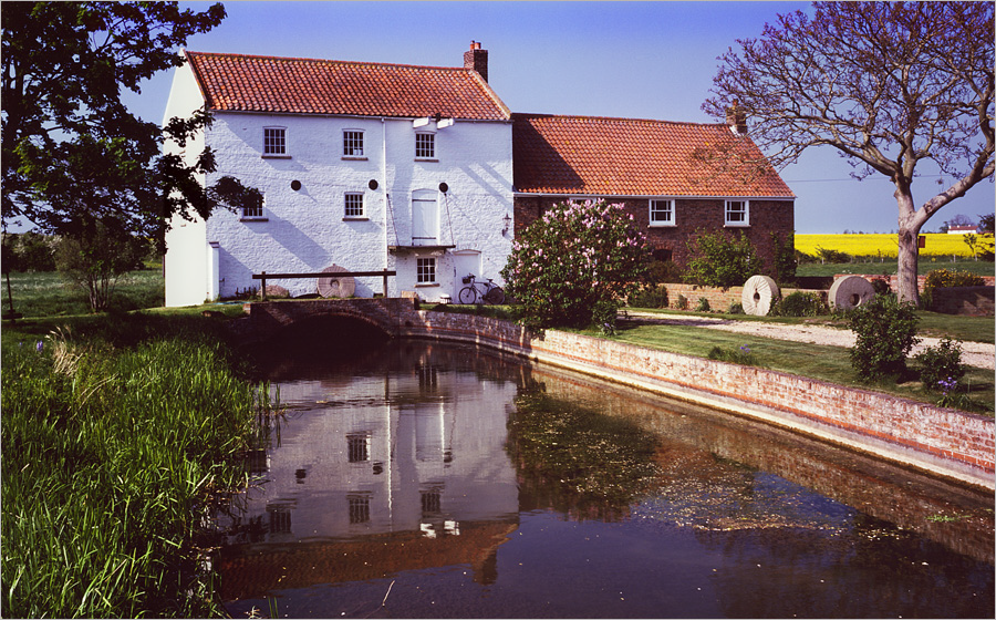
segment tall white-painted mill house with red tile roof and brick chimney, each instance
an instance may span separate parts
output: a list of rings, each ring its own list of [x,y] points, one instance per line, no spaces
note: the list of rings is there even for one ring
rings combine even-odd
[[[467,273],[500,281],[513,235],[511,114],[487,83],[487,51],[432,68],[186,52],[166,120],[207,106],[185,154],[262,192],[259,211],[176,218],[166,306],[235,297],[253,273],[396,270],[388,296],[456,298]],[[174,148],[177,148],[174,145]],[[315,279],[268,281],[292,296]],[[356,278],[355,294],[384,292]]]

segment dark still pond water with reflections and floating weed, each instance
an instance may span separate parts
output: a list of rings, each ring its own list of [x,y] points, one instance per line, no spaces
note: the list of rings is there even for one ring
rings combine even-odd
[[[473,347],[360,350],[269,352],[286,414],[218,517],[235,618],[994,616],[992,496]]]

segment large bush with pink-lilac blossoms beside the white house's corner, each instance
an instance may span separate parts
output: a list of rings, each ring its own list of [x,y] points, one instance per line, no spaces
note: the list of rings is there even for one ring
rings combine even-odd
[[[522,231],[501,276],[522,304],[525,324],[596,324],[611,333],[622,300],[637,290],[650,259],[623,205],[561,203]]]

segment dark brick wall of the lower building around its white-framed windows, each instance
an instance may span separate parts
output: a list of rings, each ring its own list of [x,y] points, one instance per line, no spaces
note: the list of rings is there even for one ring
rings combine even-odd
[[[790,200],[750,200],[750,226],[727,228],[724,226],[725,200],[723,198],[675,198],[675,225],[650,225],[649,198],[606,197],[610,203],[622,203],[633,215],[640,230],[646,235],[647,242],[654,250],[671,251],[672,259],[681,267],[688,264],[687,240],[701,230],[714,232],[726,230],[738,235],[744,232],[757,248],[765,261],[767,273],[774,273],[775,245],[771,232],[784,239],[795,229],[793,204]],[[516,235],[542,217],[547,209],[563,197],[517,196]]]

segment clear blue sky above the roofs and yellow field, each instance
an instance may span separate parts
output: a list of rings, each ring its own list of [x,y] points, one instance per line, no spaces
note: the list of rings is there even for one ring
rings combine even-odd
[[[184,2],[203,10],[207,2]],[[488,50],[489,82],[513,112],[584,114],[710,123],[702,112],[717,56],[758,37],[778,13],[808,2],[225,2],[228,18],[191,37],[187,49],[281,56],[460,66],[470,41]],[[160,122],[172,75],[126,96]],[[781,170],[798,196],[797,232],[890,232],[893,186],[851,179],[831,147]],[[925,177],[914,199],[942,186]],[[944,179],[945,185],[951,183]],[[927,223],[993,213],[996,186],[984,182]]]

